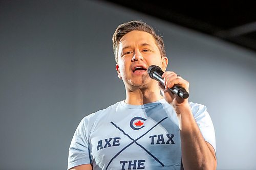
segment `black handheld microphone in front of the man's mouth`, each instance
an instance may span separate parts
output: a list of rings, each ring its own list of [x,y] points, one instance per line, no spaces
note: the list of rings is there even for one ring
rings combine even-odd
[[[161,82],[164,85],[164,81],[162,78],[163,71],[159,66],[151,65],[147,68],[147,73],[150,75],[151,79]],[[174,85],[172,88],[168,88],[172,93],[178,95],[180,98],[187,99],[189,93],[181,87],[179,84]]]

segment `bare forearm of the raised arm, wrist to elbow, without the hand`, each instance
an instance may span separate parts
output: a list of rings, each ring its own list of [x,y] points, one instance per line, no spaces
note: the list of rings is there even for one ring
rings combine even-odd
[[[179,119],[182,162],[187,169],[216,169],[216,157],[205,142],[190,106],[175,108]]]

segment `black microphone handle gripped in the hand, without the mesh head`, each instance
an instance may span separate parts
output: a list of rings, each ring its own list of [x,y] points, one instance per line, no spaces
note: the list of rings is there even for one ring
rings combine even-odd
[[[162,85],[164,85],[164,81],[162,78],[163,75],[163,71],[154,71],[153,73],[153,77],[155,77],[155,80],[160,81]],[[186,91],[186,89],[184,89],[183,87],[181,87],[179,84],[174,85],[172,88],[168,88],[170,91],[172,91],[172,93],[180,96],[183,99],[187,99],[189,96],[189,93]]]

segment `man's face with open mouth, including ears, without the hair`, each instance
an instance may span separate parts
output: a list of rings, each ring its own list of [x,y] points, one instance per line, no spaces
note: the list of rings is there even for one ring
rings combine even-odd
[[[151,82],[148,66],[158,65],[165,70],[167,62],[166,57],[161,58],[156,41],[149,33],[131,31],[119,42],[116,70],[125,86],[143,86]]]

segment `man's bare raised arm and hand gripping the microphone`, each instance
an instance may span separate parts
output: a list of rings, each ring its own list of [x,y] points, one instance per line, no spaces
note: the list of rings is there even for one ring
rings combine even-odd
[[[216,169],[215,150],[204,140],[188,104],[188,99],[179,98],[167,89],[179,84],[188,91],[189,83],[172,71],[164,72],[162,78],[164,79],[165,87],[160,83],[159,86],[164,99],[173,106],[179,119],[184,169]]]

